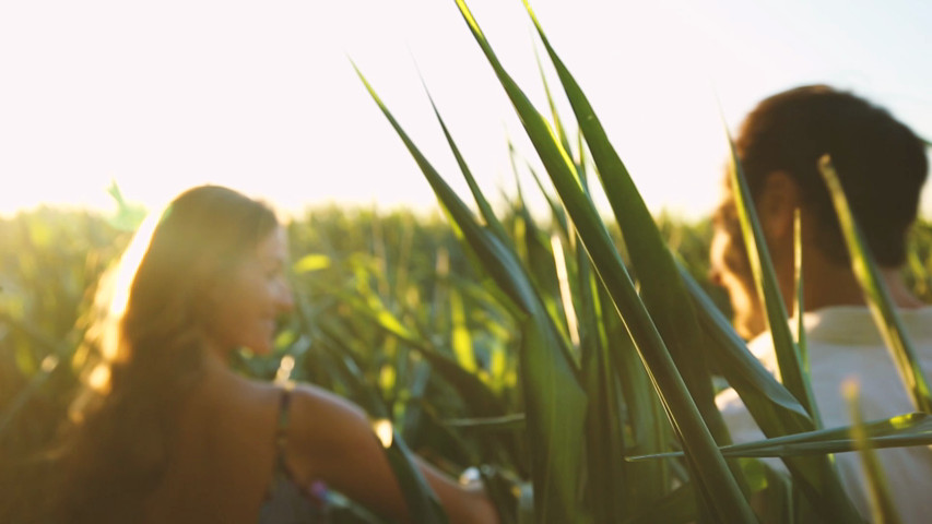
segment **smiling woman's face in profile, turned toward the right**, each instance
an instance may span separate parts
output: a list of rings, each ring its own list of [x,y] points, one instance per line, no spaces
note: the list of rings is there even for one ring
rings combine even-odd
[[[217,282],[207,322],[208,337],[217,350],[248,347],[259,355],[272,350],[275,320],[294,306],[286,261],[285,231],[276,227]]]

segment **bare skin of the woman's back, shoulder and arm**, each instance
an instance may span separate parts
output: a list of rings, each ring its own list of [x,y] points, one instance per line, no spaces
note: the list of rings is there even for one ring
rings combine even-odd
[[[178,421],[177,461],[149,500],[149,522],[253,523],[274,463],[281,390],[210,358]],[[374,511],[408,522],[404,498],[365,414],[314,386],[293,393],[286,457],[302,485],[322,479]],[[495,523],[482,491],[418,464],[451,523]]]

